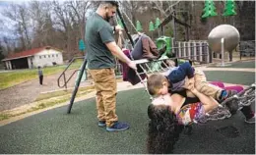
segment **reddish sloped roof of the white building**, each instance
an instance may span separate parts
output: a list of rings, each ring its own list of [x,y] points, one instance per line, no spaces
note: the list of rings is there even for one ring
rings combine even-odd
[[[44,49],[51,49],[51,48],[53,48],[53,47],[44,46],[44,47],[39,47],[39,48],[33,48],[33,49],[30,49],[30,50],[27,50],[27,51],[22,51],[22,52],[19,52],[19,53],[10,54],[5,59],[3,59],[2,61],[26,58],[26,57],[32,56],[36,53],[39,53]],[[53,49],[56,49],[56,48],[53,48]],[[58,49],[56,49],[56,50],[58,50]],[[60,51],[60,50],[58,50],[58,51]]]

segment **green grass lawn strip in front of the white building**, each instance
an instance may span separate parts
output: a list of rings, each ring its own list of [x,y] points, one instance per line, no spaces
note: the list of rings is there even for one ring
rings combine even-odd
[[[81,65],[82,60],[77,60],[69,67],[69,70],[79,69]],[[42,69],[42,72],[44,76],[49,76],[63,72],[66,67],[67,65],[46,67]],[[34,78],[38,78],[37,69],[17,70],[13,72],[0,73],[0,89],[14,86]]]

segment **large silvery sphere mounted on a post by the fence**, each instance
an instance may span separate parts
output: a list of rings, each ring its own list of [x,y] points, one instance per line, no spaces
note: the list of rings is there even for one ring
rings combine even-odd
[[[240,41],[240,34],[234,26],[216,26],[208,35],[210,48],[217,53],[222,52],[222,66],[224,66],[224,52],[229,53],[229,61],[232,61],[232,51]]]

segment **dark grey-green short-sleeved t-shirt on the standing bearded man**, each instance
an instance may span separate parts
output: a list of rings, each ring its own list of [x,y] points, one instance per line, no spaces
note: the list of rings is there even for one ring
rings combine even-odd
[[[86,24],[88,69],[115,68],[115,60],[105,43],[114,41],[113,28],[96,13]]]

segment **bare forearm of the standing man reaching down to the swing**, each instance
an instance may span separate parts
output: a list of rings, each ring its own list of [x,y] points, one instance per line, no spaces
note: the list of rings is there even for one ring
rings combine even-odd
[[[119,60],[126,63],[130,68],[137,70],[136,64],[132,62],[123,52],[122,50],[117,46],[117,44],[112,41],[105,43],[106,47],[109,49],[109,51],[116,56]]]

